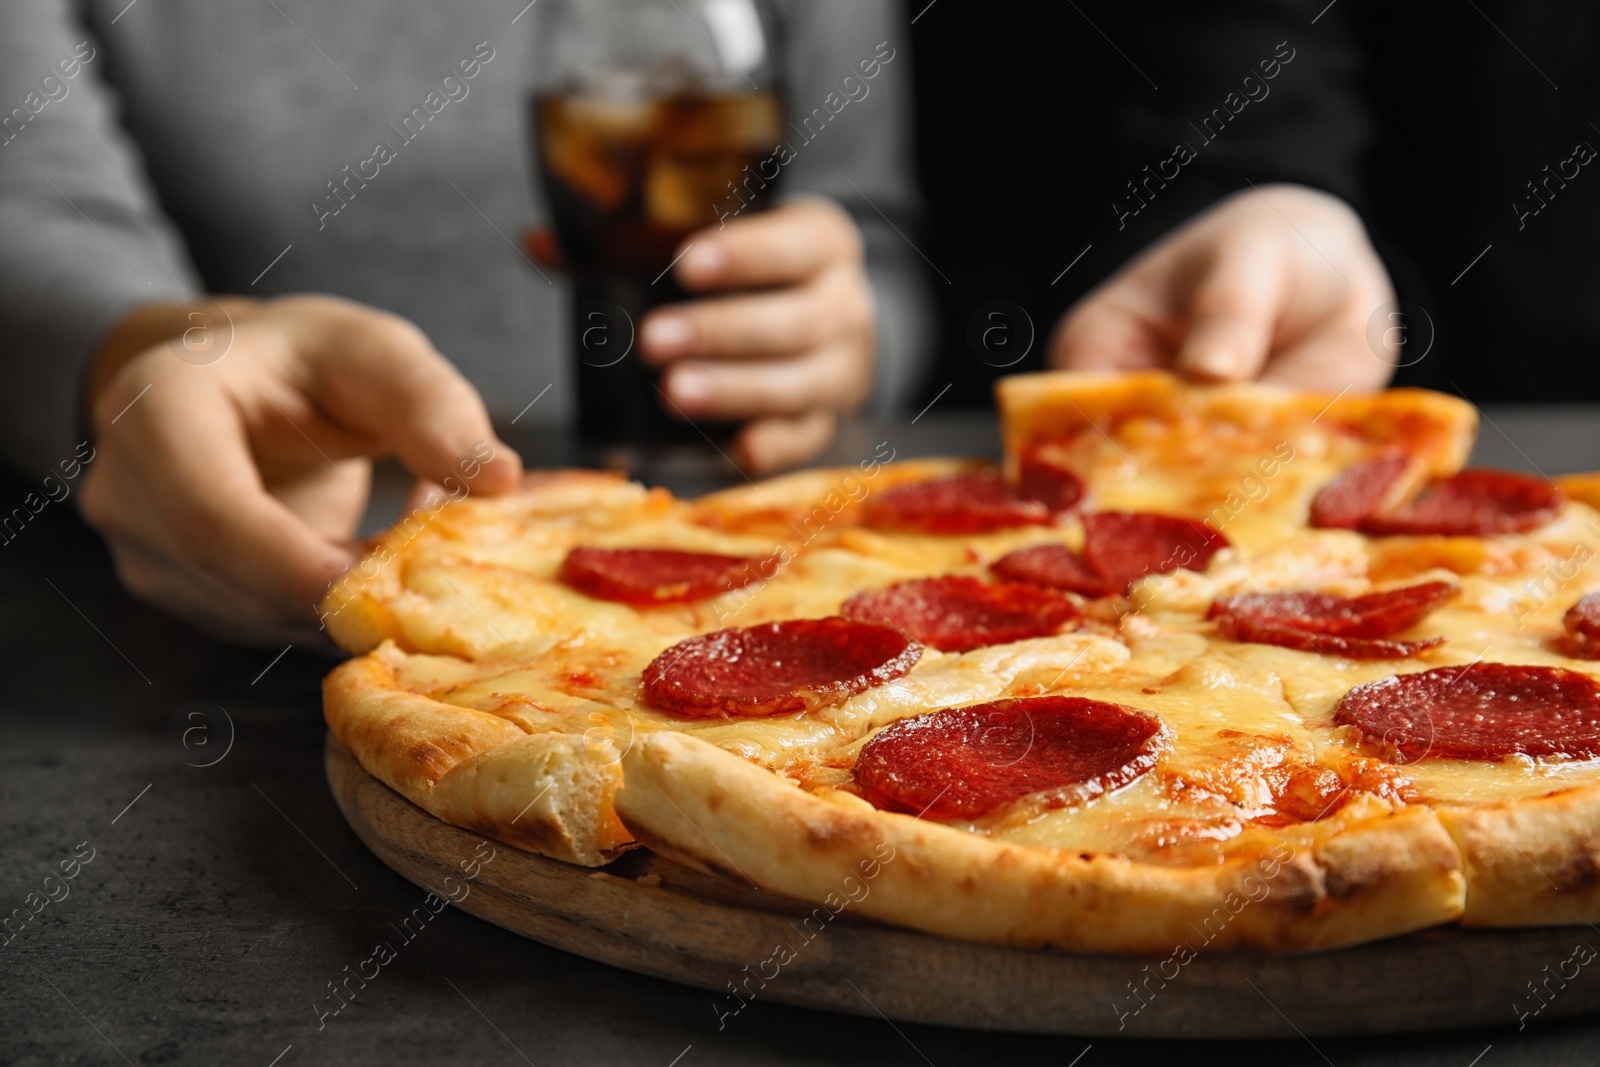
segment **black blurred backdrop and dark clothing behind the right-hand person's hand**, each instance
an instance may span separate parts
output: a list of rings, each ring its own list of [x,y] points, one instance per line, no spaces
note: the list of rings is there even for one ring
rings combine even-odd
[[[941,309],[920,405],[947,384],[939,408],[989,405],[994,378],[1043,366],[1074,299],[1178,221],[1270,181],[1362,211],[1408,312],[1398,382],[1478,403],[1600,398],[1600,174],[1574,158],[1600,147],[1594,5],[910,0],[907,18],[918,243]],[[1269,93],[1203,141],[1190,123],[1280,43],[1293,59]],[[1118,229],[1125,182],[1178,141],[1197,158]],[[994,299],[1037,331],[1014,368],[966,341]]]

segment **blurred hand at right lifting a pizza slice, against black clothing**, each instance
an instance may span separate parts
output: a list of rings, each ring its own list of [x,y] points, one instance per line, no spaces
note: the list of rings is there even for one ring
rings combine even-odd
[[[1051,338],[1050,363],[1379,389],[1400,357],[1387,333],[1374,352],[1366,325],[1392,299],[1349,205],[1264,186],[1222,200],[1078,301]]]

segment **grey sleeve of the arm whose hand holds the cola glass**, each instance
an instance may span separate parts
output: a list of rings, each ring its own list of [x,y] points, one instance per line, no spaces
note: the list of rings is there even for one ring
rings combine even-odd
[[[790,0],[782,195],[814,194],[854,218],[867,250],[878,357],[872,405],[904,408],[933,342],[926,267],[915,240],[910,35],[894,0]],[[870,77],[869,77],[870,72]]]

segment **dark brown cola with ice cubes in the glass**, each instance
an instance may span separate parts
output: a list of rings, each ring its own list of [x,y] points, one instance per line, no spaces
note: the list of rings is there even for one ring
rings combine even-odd
[[[742,202],[733,192],[781,139],[778,96],[554,93],[533,96],[530,110],[539,181],[573,280],[579,437],[602,446],[720,443],[731,427],[672,413],[635,336],[650,309],[691,299],[672,280],[674,256]],[[770,203],[771,182],[762,184]]]

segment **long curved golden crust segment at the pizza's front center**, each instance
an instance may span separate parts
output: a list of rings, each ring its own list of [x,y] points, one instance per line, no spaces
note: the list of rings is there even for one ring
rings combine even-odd
[[[675,733],[624,758],[618,811],[734,878],[946,937],[1077,952],[1328,949],[1456,918],[1456,851],[1427,811],[1333,819],[1219,865],[1019,848],[835,805]]]

